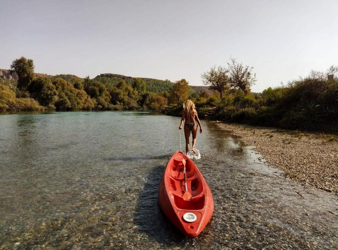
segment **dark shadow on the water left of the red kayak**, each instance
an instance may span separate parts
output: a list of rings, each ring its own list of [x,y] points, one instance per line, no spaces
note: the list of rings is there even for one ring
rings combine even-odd
[[[169,221],[159,204],[158,190],[163,170],[163,166],[157,166],[147,175],[136,205],[134,223],[149,239],[160,244],[184,244],[185,235]]]

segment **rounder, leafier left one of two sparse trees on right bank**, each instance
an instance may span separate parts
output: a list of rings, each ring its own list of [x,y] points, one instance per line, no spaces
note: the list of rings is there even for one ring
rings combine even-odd
[[[217,69],[216,66],[213,66],[210,71],[204,72],[202,81],[204,85],[210,85],[210,90],[219,92],[221,99],[224,91],[230,88],[228,70],[221,66],[218,66]]]

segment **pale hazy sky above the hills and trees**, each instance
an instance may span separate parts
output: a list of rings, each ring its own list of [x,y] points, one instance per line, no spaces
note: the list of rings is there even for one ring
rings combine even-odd
[[[253,66],[253,92],[338,64],[338,0],[0,0],[0,68],[114,73],[203,85],[230,57]]]

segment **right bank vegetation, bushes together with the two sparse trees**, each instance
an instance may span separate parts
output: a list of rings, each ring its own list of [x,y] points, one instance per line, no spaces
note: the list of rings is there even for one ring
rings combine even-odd
[[[252,93],[252,67],[231,60],[228,68],[212,67],[202,75],[216,94],[199,93],[193,101],[200,116],[228,122],[292,130],[338,133],[338,67],[311,71],[286,86]],[[222,98],[221,98],[222,96]],[[167,114],[180,115],[182,104],[170,105]]]

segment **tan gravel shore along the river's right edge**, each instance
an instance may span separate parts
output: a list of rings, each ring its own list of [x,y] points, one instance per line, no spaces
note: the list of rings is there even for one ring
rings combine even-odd
[[[263,156],[260,159],[307,187],[338,195],[337,136],[242,124],[216,122],[220,129],[241,137]]]

